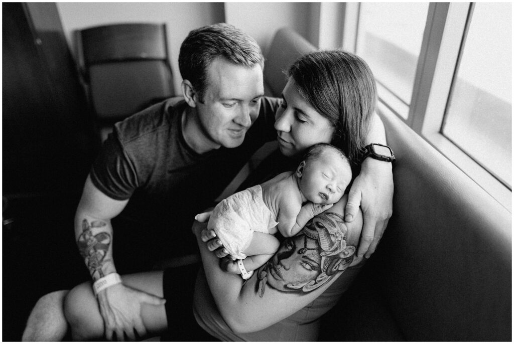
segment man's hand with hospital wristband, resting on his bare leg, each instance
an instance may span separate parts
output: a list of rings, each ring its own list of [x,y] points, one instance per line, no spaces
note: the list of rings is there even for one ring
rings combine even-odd
[[[136,340],[146,335],[141,319],[141,303],[163,305],[166,300],[155,295],[128,288],[122,283],[109,286],[98,294],[100,313],[105,325],[105,337],[113,340]],[[136,338],[135,332],[138,334]]]

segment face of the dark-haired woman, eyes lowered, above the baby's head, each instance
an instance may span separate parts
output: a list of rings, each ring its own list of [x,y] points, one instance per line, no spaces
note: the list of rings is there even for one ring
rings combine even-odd
[[[292,78],[284,87],[282,99],[275,114],[275,129],[283,155],[299,156],[316,143],[332,141],[334,126],[303,99]]]

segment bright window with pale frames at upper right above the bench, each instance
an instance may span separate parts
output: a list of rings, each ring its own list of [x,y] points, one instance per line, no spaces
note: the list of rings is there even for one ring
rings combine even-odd
[[[392,111],[507,208],[512,196],[511,3],[357,3],[343,46]],[[348,7],[348,5],[347,5]],[[347,24],[345,24],[346,27]]]

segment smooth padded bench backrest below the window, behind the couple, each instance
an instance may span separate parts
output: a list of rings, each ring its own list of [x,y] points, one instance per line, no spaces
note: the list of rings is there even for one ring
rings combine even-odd
[[[282,71],[313,50],[296,32],[279,30],[266,55],[268,94],[280,95],[286,83]],[[341,319],[334,324],[346,323],[357,337],[341,330],[339,339],[330,340],[362,340],[356,329],[366,326],[377,329],[377,338],[365,340],[387,340],[380,324],[394,328],[392,340],[510,341],[510,211],[397,117],[380,116],[397,157],[393,217],[365,267],[372,270],[369,278],[383,309],[374,312],[366,300],[352,309],[338,304],[333,314]],[[370,293],[361,296],[370,299]],[[367,313],[356,316],[359,311]],[[346,319],[348,314],[353,317]],[[337,333],[334,327],[326,332]]]

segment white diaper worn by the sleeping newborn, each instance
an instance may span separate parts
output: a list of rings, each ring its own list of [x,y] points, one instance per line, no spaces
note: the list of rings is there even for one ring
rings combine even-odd
[[[216,232],[233,259],[245,259],[253,232],[269,233],[276,226],[273,214],[262,198],[261,185],[255,185],[219,202],[207,227]]]

